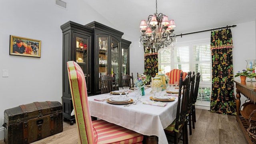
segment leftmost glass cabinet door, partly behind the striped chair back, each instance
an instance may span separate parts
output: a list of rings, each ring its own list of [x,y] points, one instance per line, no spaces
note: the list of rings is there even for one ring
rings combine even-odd
[[[81,34],[74,34],[76,38],[76,62],[82,68],[84,72],[84,78],[86,80],[87,91],[90,92],[90,72],[88,71],[88,37]]]

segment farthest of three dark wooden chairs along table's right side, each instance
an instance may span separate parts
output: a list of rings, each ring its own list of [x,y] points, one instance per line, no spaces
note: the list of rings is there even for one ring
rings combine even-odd
[[[195,103],[197,100],[197,96],[198,96],[198,88],[199,88],[199,83],[200,83],[200,72],[198,72],[196,74],[196,83],[195,83],[195,89],[194,89],[194,96],[193,96],[193,100],[192,100],[192,128],[195,128],[195,122],[196,122],[196,107],[195,107]]]

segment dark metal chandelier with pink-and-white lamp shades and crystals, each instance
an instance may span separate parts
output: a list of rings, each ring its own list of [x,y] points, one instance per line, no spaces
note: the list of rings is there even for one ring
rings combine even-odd
[[[176,40],[176,35],[172,29],[174,27],[176,27],[174,20],[169,21],[168,16],[157,13],[156,0],[156,13],[149,15],[147,22],[145,20],[140,22],[140,32],[142,34],[139,43],[146,46],[146,49],[151,48],[157,52]]]

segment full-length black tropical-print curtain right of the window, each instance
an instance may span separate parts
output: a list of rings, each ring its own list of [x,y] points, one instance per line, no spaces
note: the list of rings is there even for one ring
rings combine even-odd
[[[232,48],[233,42],[230,29],[217,30],[211,33],[211,112],[236,115]]]

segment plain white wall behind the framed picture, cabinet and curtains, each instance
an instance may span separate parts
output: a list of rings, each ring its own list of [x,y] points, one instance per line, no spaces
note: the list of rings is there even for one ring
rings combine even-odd
[[[66,0],[68,9],[55,6],[55,0],[5,0],[0,9],[0,120],[4,110],[40,101],[62,102],[62,31],[71,20],[79,24],[97,21],[115,28],[110,21],[86,5],[84,0]],[[120,30],[122,31],[122,30]],[[234,72],[246,66],[245,60],[256,57],[255,22],[232,28]],[[10,35],[42,41],[41,58],[9,55]],[[132,34],[124,34],[133,40]],[[136,36],[138,37],[138,36]],[[204,39],[210,32],[192,34],[178,41]],[[124,38],[124,37],[123,37]],[[2,70],[9,77],[2,77]],[[144,72],[143,48],[133,40],[130,46],[130,72]],[[4,138],[0,122],[0,140]]]

